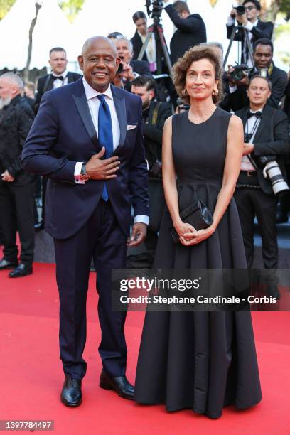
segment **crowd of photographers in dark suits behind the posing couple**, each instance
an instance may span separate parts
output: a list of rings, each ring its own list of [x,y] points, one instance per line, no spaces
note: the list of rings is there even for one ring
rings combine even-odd
[[[207,41],[205,23],[191,14],[184,1],[147,1],[153,7],[154,26],[147,26],[142,11],[133,15],[136,32],[131,39],[119,32],[108,35],[122,62],[113,84],[139,95],[142,100],[144,143],[149,168],[151,216],[146,252],[130,256],[129,267],[151,267],[165,206],[162,188],[161,146],[166,119],[188,109],[177,98],[171,82],[171,65],[193,45],[210,45],[224,65],[222,109],[235,112],[245,126],[244,156],[235,199],[240,213],[248,267],[254,257],[254,218],[262,237],[264,267],[276,268],[278,247],[276,223],[287,222],[289,188],[289,75],[274,65],[273,23],[259,20],[257,0],[244,1],[227,19],[227,38],[240,41],[238,65],[227,65],[227,55],[218,42]],[[161,6],[164,7],[161,8]],[[169,43],[170,59],[162,49],[159,17],[164,9],[176,26]],[[161,37],[159,37],[161,35]],[[141,55],[140,55],[141,53]],[[171,62],[171,65],[170,65]],[[45,92],[78,80],[68,71],[65,49],[50,50],[51,72],[23,83],[17,73],[0,76],[0,243],[4,247],[1,269],[12,269],[11,277],[32,273],[34,230],[43,229],[45,178],[24,173],[20,155],[26,135]],[[278,207],[277,207],[278,204]],[[40,212],[41,210],[41,212]],[[21,242],[18,262],[16,232]]]

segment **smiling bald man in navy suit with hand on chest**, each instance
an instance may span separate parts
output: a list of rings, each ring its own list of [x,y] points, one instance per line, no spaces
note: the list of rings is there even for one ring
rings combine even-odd
[[[43,95],[22,157],[23,168],[50,178],[45,229],[55,240],[65,372],[61,400],[70,407],[82,402],[92,257],[102,329],[100,387],[134,397],[125,376],[126,313],[112,312],[111,270],[125,267],[127,245],[144,241],[149,222],[141,99],[110,85],[119,58],[109,39],[87,40],[78,60],[84,77]],[[135,223],[127,238],[131,204]]]

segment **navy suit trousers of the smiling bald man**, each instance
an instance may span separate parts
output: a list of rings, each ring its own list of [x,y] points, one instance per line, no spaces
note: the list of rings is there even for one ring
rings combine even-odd
[[[110,201],[100,200],[94,213],[73,237],[55,239],[56,278],[60,295],[60,359],[73,378],[85,376],[87,286],[92,257],[97,270],[98,313],[102,330],[99,352],[109,375],[126,371],[125,312],[112,312],[111,270],[127,262],[127,238]]]

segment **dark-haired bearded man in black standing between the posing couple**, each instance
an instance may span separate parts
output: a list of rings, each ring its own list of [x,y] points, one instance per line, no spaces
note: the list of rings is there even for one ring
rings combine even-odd
[[[150,268],[154,261],[158,232],[165,206],[162,174],[161,174],[161,149],[164,122],[171,116],[171,105],[166,102],[157,102],[155,97],[154,80],[148,76],[139,75],[131,83],[131,92],[139,95],[142,100],[143,135],[146,160],[149,166],[149,208],[150,219],[145,245],[146,259],[142,254],[143,266]],[[138,257],[129,259],[130,267],[138,267]]]

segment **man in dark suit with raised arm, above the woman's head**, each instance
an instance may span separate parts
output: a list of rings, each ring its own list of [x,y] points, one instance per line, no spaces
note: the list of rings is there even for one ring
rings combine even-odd
[[[168,0],[164,0],[167,3]],[[165,11],[177,30],[170,41],[171,63],[176,63],[188,48],[206,42],[206,29],[203,18],[199,14],[190,14],[185,1],[174,1],[168,4]]]

